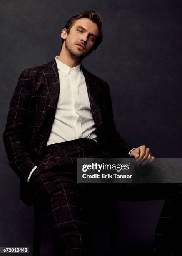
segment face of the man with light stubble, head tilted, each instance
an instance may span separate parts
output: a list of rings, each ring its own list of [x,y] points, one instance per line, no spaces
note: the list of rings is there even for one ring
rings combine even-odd
[[[62,38],[65,39],[65,48],[72,57],[83,59],[92,52],[99,29],[96,23],[88,18],[76,20],[67,34],[66,29],[62,31]]]

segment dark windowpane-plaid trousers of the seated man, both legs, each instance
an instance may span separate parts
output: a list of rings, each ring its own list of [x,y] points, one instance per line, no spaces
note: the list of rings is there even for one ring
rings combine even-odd
[[[90,218],[92,216],[90,216],[89,207],[95,200],[102,198],[102,200],[106,200],[106,203],[108,198],[108,200],[110,198],[151,200],[152,197],[159,196],[161,185],[166,185],[77,184],[77,158],[84,157],[110,158],[116,156],[100,149],[97,143],[91,139],[55,143],[46,147],[42,162],[30,179],[35,201],[40,207],[42,217],[50,223],[56,256],[93,256],[90,236]],[[172,184],[169,184],[169,187],[170,185]],[[181,220],[182,203],[179,204],[177,198],[177,195],[180,196],[179,191],[181,190],[176,187],[170,188],[168,193],[170,197],[166,199],[157,224],[154,245],[151,250],[149,248],[148,255],[181,255],[181,235],[180,230],[177,231],[177,226],[178,224],[182,226],[181,222],[178,223]],[[165,195],[166,192],[163,194]],[[112,214],[113,212],[110,217],[114,218]],[[178,218],[175,218],[175,215]],[[117,244],[114,244],[113,247],[117,247]],[[114,255],[119,254],[116,251],[112,256]]]

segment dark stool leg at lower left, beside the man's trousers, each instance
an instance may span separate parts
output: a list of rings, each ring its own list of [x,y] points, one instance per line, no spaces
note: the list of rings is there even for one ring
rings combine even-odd
[[[42,219],[39,208],[34,205],[33,256],[40,256]]]

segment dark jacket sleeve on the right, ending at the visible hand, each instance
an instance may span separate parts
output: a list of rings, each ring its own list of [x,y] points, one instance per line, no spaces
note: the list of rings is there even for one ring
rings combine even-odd
[[[103,114],[103,125],[105,131],[105,141],[103,141],[103,143],[105,143],[107,150],[113,151],[117,157],[130,157],[130,150],[137,147],[127,143],[116,130],[110,89],[107,83],[105,83],[104,101],[105,113]]]

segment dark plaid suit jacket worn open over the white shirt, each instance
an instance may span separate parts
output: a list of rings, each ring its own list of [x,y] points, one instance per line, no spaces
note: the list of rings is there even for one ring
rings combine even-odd
[[[106,82],[81,65],[95,122],[97,142],[116,157],[128,157],[135,146],[117,133],[112,102]],[[25,69],[18,79],[10,102],[4,131],[9,164],[20,177],[20,199],[31,205],[27,183],[32,168],[39,165],[50,135],[59,98],[59,74],[56,61]]]

